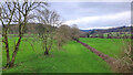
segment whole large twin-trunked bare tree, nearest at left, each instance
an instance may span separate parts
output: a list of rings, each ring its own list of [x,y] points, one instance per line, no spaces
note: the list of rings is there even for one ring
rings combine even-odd
[[[47,6],[47,3],[43,3]],[[12,67],[14,65],[16,56],[19,51],[19,45],[21,39],[24,34],[24,29],[30,19],[30,12],[41,6],[41,2],[4,2],[1,4],[2,12],[1,12],[1,23],[2,23],[2,42],[6,44],[6,52],[7,52],[7,65],[6,67]],[[11,23],[16,23],[19,28],[19,39],[14,45],[14,50],[12,53],[12,58],[10,61],[9,55],[9,42],[8,42],[8,30],[11,26]]]

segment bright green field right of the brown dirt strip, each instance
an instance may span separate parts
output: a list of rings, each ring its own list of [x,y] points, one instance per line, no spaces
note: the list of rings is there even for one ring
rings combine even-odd
[[[89,44],[90,46],[96,49],[98,51],[112,56],[119,57],[122,50],[122,40],[121,39],[88,39],[81,38],[81,42]]]

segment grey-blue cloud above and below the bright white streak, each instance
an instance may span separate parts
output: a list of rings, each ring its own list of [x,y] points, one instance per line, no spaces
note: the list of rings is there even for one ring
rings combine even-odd
[[[52,2],[51,9],[65,20],[76,20],[84,17],[100,17],[131,11],[130,2]],[[123,17],[124,18],[124,17]],[[99,23],[99,24],[98,24]],[[93,23],[78,23],[80,29],[92,26],[120,26],[130,24],[130,17],[111,21],[99,20]]]

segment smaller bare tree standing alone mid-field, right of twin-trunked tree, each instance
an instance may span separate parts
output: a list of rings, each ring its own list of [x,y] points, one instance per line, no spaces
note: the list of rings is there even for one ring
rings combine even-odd
[[[40,21],[40,25],[38,25],[39,38],[42,40],[42,47],[44,51],[44,55],[49,55],[49,51],[53,44],[53,36],[55,34],[57,25],[60,24],[59,14],[54,11],[50,11],[48,9],[40,11],[38,10],[39,15],[38,19]]]

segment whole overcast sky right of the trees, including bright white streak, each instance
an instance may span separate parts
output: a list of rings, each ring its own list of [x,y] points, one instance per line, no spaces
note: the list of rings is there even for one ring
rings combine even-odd
[[[51,2],[68,25],[79,29],[106,29],[130,25],[131,2]]]

